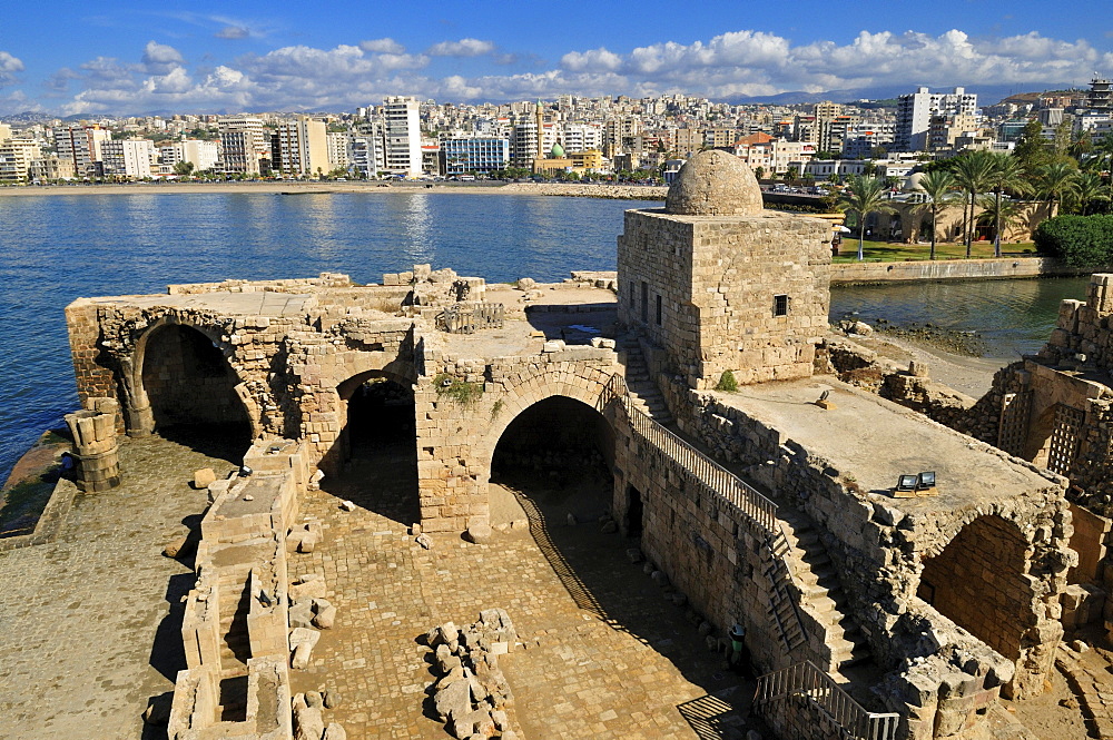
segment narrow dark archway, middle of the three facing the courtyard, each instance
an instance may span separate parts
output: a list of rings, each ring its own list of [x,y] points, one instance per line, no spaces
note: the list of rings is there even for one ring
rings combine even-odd
[[[319,463],[322,489],[403,525],[421,521],[413,384],[368,371],[336,392],[344,426]]]

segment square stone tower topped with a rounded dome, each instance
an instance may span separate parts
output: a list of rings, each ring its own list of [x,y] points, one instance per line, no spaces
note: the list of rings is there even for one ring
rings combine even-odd
[[[830,303],[830,227],[767,211],[738,157],[701,151],[663,209],[628,210],[619,322],[692,388],[807,377]]]

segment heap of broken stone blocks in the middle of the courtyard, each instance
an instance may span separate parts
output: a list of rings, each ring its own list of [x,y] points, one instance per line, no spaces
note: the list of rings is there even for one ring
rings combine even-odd
[[[518,643],[518,632],[502,609],[480,612],[474,624],[457,629],[452,622],[425,635],[433,649],[432,708],[449,733],[460,740],[521,738],[513,717],[514,698],[499,668],[499,655]]]

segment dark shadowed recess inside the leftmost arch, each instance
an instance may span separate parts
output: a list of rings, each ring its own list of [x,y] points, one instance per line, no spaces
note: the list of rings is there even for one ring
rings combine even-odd
[[[206,454],[243,460],[253,435],[236,393],[239,377],[208,336],[181,324],[156,327],[144,345],[141,373],[159,435]]]

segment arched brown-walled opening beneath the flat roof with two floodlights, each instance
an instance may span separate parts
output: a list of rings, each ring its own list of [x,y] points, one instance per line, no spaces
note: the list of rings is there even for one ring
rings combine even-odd
[[[924,562],[917,595],[1009,660],[1036,622],[1025,552],[1015,524],[996,515],[964,526]]]

